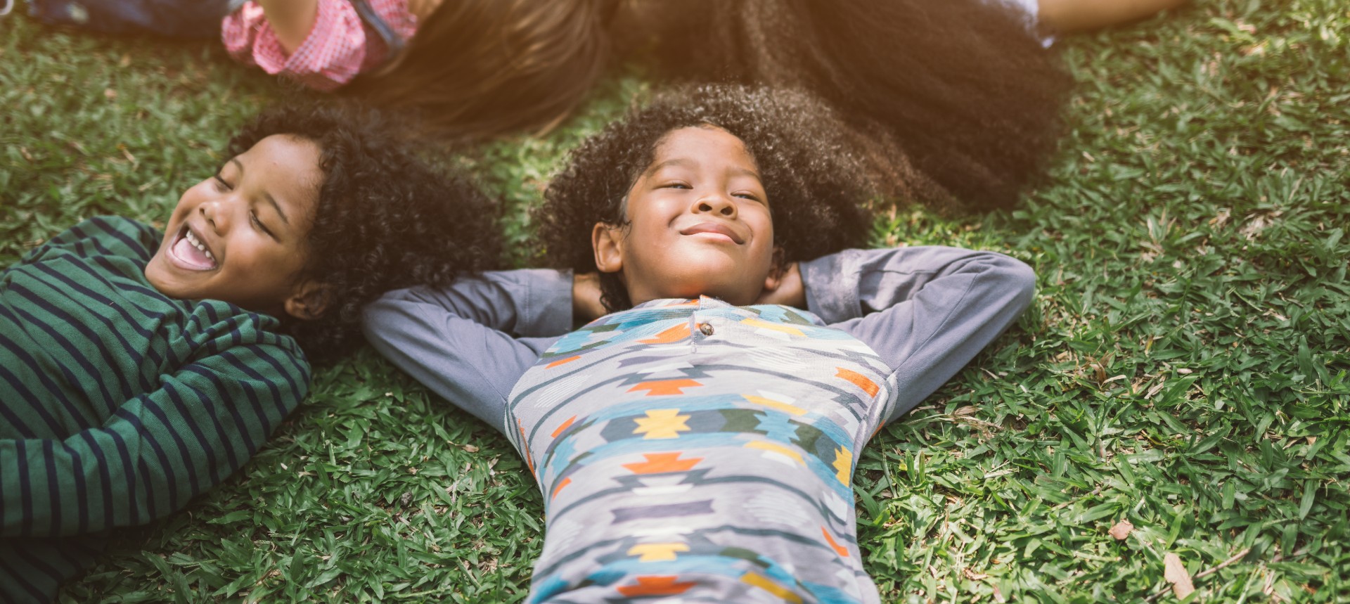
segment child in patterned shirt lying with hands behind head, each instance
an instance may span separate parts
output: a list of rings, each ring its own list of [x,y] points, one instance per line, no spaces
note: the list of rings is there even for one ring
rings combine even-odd
[[[504,272],[367,309],[381,353],[535,473],[548,524],[526,601],[879,601],[857,454],[1027,307],[1034,276],[987,251],[844,250],[869,222],[842,131],[791,92],[666,97],[545,193],[547,258],[598,269],[602,293]]]

